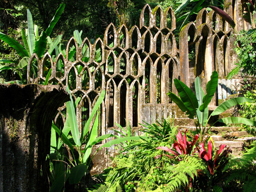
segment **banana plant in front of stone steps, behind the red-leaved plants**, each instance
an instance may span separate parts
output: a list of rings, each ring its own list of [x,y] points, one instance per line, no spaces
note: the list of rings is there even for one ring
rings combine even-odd
[[[204,139],[204,136],[209,128],[213,126],[216,122],[223,122],[226,124],[244,123],[252,126],[256,125],[256,122],[250,119],[242,117],[225,117],[217,120],[216,122],[208,126],[208,121],[210,117],[220,115],[221,113],[225,112],[226,110],[237,104],[253,101],[252,99],[245,97],[228,99],[221,103],[219,106],[217,106],[217,108],[209,115],[208,105],[212,97],[214,97],[218,86],[218,73],[216,71],[212,72],[210,80],[207,83],[206,94],[204,94],[203,92],[203,89],[201,87],[201,80],[199,77],[197,77],[195,81],[196,94],[178,79],[174,80],[174,84],[178,91],[179,97],[172,92],[168,92],[167,95],[179,106],[182,112],[188,115],[188,118],[194,120],[196,118],[195,125],[197,133],[200,136],[200,142]]]

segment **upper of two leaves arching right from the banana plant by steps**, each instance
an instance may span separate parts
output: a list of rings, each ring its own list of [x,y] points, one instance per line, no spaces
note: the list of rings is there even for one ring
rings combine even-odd
[[[219,115],[234,105],[237,105],[243,102],[252,102],[252,101],[253,99],[246,98],[246,97],[236,97],[236,98],[228,99],[223,103],[221,103],[219,106],[217,106],[217,108],[211,113],[211,116]]]

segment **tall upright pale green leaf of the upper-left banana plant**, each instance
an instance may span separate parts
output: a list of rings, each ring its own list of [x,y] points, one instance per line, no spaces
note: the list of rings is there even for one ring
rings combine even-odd
[[[35,49],[34,25],[33,25],[32,15],[29,9],[27,9],[27,13],[28,13],[28,45],[29,45],[30,55],[32,55]]]

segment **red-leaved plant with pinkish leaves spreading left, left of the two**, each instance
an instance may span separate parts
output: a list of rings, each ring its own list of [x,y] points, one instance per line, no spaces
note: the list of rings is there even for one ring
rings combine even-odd
[[[184,135],[182,136],[181,131],[179,131],[179,133],[176,135],[177,140],[174,140],[174,144],[172,145],[172,147],[168,148],[166,146],[159,146],[157,147],[157,150],[163,150],[165,152],[168,152],[169,154],[173,154],[174,156],[170,156],[170,155],[166,155],[165,156],[169,157],[169,158],[174,158],[176,157],[178,159],[178,161],[181,161],[182,159],[179,157],[179,155],[194,155],[194,153],[196,153],[196,147],[194,148],[194,145],[196,143],[196,141],[199,138],[199,134],[195,135],[194,139],[192,142],[187,141],[187,136],[186,136],[186,132],[185,131]],[[173,151],[172,149],[175,148],[175,151]],[[157,155],[155,157],[155,159],[162,157],[163,155]]]

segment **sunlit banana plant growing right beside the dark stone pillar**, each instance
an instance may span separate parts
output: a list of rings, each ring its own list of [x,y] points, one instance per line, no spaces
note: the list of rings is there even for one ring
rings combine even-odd
[[[58,167],[52,167],[52,173],[53,170],[55,170],[55,174],[52,174],[51,176],[53,183],[50,191],[60,191],[67,180],[69,180],[70,184],[78,183],[82,177],[86,176],[91,160],[97,151],[101,150],[102,147],[110,147],[113,144],[118,144],[127,140],[141,139],[139,136],[133,136],[111,140],[101,145],[96,153],[92,156],[92,158],[90,158],[92,148],[96,143],[113,137],[112,134],[106,134],[98,137],[99,114],[97,112],[101,102],[104,99],[105,91],[103,90],[99,95],[90,114],[90,117],[84,125],[81,133],[78,129],[77,117],[75,113],[75,106],[79,102],[79,99],[74,103],[68,88],[67,91],[70,94],[70,101],[66,102],[67,117],[62,131],[55,124],[52,124],[50,160],[52,162],[61,161],[63,163],[62,168],[59,167],[59,164]],[[95,120],[91,128],[90,124],[94,117]],[[56,139],[56,133],[58,134],[58,140]],[[63,144],[68,146],[70,156],[72,156],[72,158],[65,154],[65,151],[63,150]],[[64,158],[59,159],[60,157]],[[52,163],[52,165],[53,164],[54,163]],[[63,167],[64,164],[68,164],[69,168],[65,169],[65,167]]]

